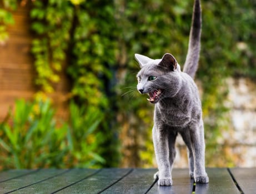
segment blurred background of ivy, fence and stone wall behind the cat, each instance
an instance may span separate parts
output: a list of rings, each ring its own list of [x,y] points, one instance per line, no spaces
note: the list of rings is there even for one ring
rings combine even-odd
[[[256,166],[256,2],[204,0],[206,165]],[[0,169],[156,167],[134,53],[183,65],[192,0],[0,1]],[[177,140],[175,167],[188,167]]]

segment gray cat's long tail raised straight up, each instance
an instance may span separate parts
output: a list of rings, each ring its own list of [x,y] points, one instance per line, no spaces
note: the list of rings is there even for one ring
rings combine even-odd
[[[202,27],[202,16],[200,0],[194,1],[192,24],[189,34],[188,53],[185,60],[183,72],[189,74],[192,78],[197,72],[199,54],[200,54],[200,37]]]

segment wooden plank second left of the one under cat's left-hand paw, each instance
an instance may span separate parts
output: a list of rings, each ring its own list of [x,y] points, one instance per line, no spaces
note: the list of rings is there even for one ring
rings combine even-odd
[[[68,187],[63,188],[60,193],[99,193],[115,184],[130,171],[131,169],[102,169],[92,177],[82,179],[74,185],[67,185]]]

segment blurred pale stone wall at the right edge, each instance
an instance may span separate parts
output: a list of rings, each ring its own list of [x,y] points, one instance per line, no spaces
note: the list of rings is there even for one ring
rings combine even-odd
[[[230,132],[227,138],[235,155],[236,166],[256,166],[256,83],[250,79],[227,80]]]

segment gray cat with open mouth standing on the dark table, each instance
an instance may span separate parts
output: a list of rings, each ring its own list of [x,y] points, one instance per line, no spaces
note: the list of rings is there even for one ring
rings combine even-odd
[[[197,183],[208,183],[204,164],[204,126],[202,107],[193,78],[200,52],[201,8],[195,0],[189,48],[183,72],[172,54],[162,59],[150,59],[135,54],[140,65],[137,89],[148,94],[155,104],[153,143],[158,172],[158,185],[172,185],[172,166],[175,158],[175,139],[180,134],[187,145],[190,177]]]

